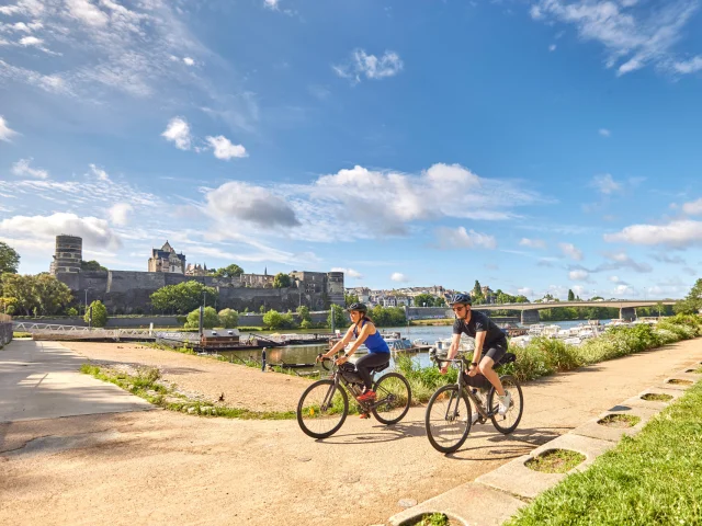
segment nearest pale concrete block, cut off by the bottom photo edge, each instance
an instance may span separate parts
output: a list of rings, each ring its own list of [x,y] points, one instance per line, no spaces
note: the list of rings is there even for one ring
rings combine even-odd
[[[393,515],[388,523],[400,526],[426,513],[440,512],[464,526],[499,526],[524,505],[501,491],[468,482]]]

